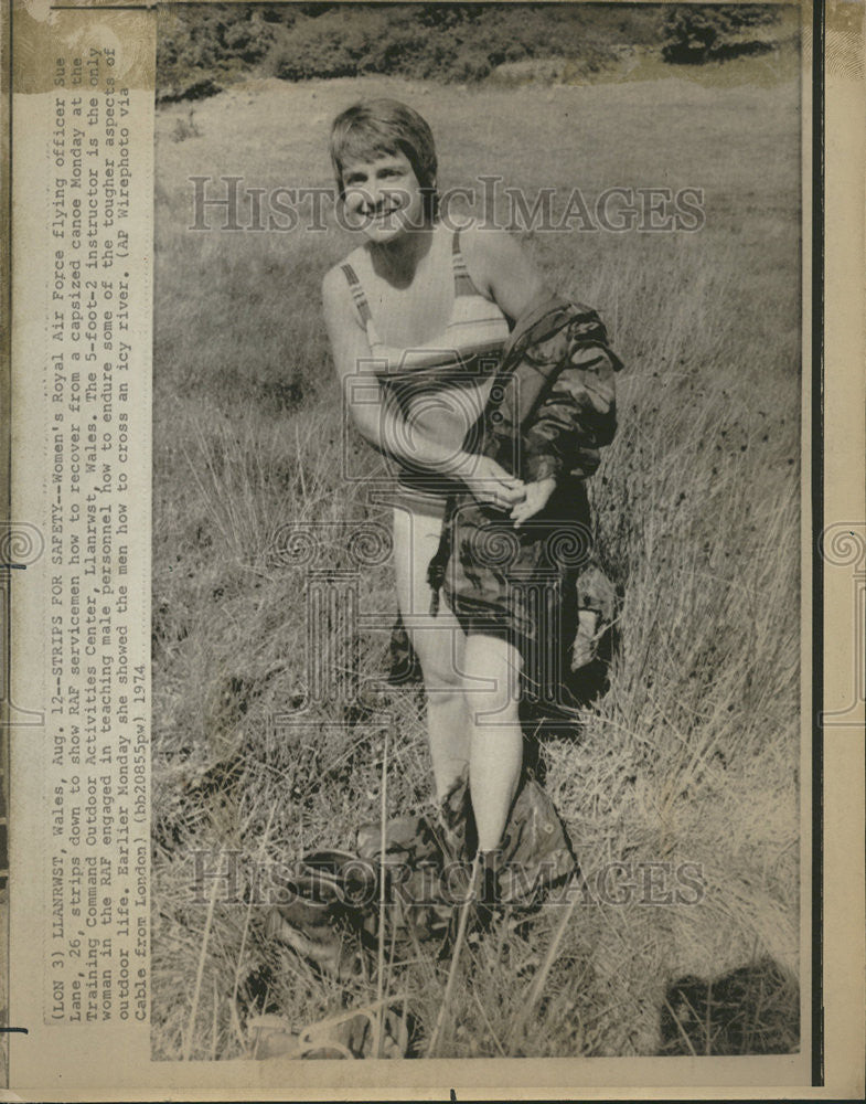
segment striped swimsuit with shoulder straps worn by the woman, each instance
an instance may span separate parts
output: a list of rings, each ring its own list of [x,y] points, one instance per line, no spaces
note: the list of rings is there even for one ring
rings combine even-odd
[[[349,263],[342,268],[366,328],[373,358],[382,355],[389,365],[377,373],[379,382],[388,388],[406,414],[419,399],[421,402],[441,400],[446,410],[450,407],[451,413],[467,423],[462,447],[475,452],[474,424],[469,424],[469,420],[471,417],[472,422],[477,422],[481,410],[479,407],[470,415],[471,404],[461,402],[460,393],[467,388],[478,386],[498,370],[509,338],[509,323],[496,304],[485,298],[472,283],[460,252],[459,232],[453,234],[451,243],[455,295],[450,318],[441,336],[408,349],[394,349],[382,341],[357,274]],[[385,351],[387,357],[383,355]],[[394,362],[396,368],[391,367]],[[462,486],[453,478],[437,473],[392,463],[399,498],[407,506],[439,510],[445,498]]]

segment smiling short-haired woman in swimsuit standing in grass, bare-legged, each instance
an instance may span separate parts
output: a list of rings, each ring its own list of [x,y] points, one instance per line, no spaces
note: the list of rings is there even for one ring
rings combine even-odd
[[[343,393],[352,376],[365,383],[364,402],[350,400],[357,429],[398,469],[397,599],[427,691],[436,789],[443,802],[468,768],[483,860],[501,845],[521,774],[523,660],[506,633],[467,633],[446,604],[436,608],[428,566],[449,496],[469,491],[516,527],[555,488],[549,473],[524,482],[473,450],[514,321],[548,293],[506,232],[457,232],[438,217],[434,138],[411,108],[350,107],[333,124],[331,157],[345,224],[365,241],[324,277],[328,333]]]

